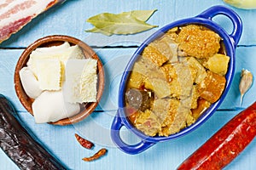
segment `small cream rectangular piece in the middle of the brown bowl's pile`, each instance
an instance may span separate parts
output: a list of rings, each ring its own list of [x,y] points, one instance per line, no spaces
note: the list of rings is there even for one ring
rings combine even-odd
[[[42,90],[61,89],[61,62],[59,59],[35,59],[39,88]]]

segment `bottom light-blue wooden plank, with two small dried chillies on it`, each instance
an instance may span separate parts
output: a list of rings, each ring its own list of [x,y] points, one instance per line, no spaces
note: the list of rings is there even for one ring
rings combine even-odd
[[[201,127],[198,127],[194,132],[189,133],[179,139],[155,144],[153,147],[136,156],[130,156],[117,149],[114,145],[109,145],[109,128],[113,120],[113,113],[104,112],[97,116],[94,113],[88,119],[72,126],[53,126],[49,124],[35,124],[32,116],[20,114],[21,119],[28,125],[32,132],[38,137],[44,145],[57,156],[69,169],[175,169],[177,166],[192,154],[198,147],[201,146],[213,133],[217,132],[220,127],[228,122],[237,111],[217,111],[207,122]],[[106,122],[108,121],[108,122]],[[93,123],[96,122],[96,123]],[[88,125],[90,124],[90,125]],[[102,131],[102,129],[105,129]],[[139,141],[134,134],[122,128],[122,138],[125,141]],[[91,132],[94,136],[87,136]],[[92,139],[96,145],[93,150],[82,148],[74,138],[74,133],[83,135],[86,139]],[[102,137],[101,137],[102,136]],[[100,137],[100,138],[99,138]],[[133,141],[133,142],[134,142]],[[134,143],[129,143],[134,144]],[[101,148],[108,149],[108,155],[102,159],[92,162],[84,162],[81,159],[85,156],[93,155]],[[254,140],[248,145],[240,156],[238,156],[228,167],[227,170],[238,170],[246,168],[253,170],[256,166],[254,158],[256,156],[256,141]],[[15,170],[18,169],[9,158],[0,151],[0,163],[3,169]]]

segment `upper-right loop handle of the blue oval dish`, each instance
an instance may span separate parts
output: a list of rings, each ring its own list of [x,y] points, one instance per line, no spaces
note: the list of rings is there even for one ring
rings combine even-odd
[[[212,20],[212,18],[218,14],[224,14],[225,16],[229,17],[230,20],[232,21],[234,28],[232,33],[230,34],[230,37],[233,38],[234,45],[236,47],[241,37],[242,23],[241,23],[241,18],[238,16],[238,14],[236,14],[235,11],[233,11],[230,8],[226,8],[224,6],[217,5],[217,6],[213,6],[212,8],[208,8],[207,10],[197,15],[196,17]]]

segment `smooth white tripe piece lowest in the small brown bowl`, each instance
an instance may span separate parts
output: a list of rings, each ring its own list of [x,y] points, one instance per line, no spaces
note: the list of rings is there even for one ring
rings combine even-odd
[[[80,111],[79,104],[65,101],[62,91],[44,91],[32,103],[35,122],[56,122],[74,116]]]

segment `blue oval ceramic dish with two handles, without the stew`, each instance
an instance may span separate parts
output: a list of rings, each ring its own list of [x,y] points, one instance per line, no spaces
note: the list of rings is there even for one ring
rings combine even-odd
[[[214,21],[212,21],[212,18],[218,14],[223,14],[227,16],[233,24],[233,31],[228,34],[221,26],[218,26],[218,24]],[[223,38],[224,46],[226,50],[226,54],[230,56],[230,63],[229,68],[226,73],[226,87],[224,89],[224,92],[220,99],[218,99],[217,102],[213,103],[207,111],[205,111],[197,120],[195,123],[190,125],[189,127],[183,128],[180,132],[171,134],[168,137],[163,136],[154,136],[150,137],[142,133],[141,131],[137,130],[136,127],[134,127],[131,122],[128,120],[128,118],[125,115],[125,88],[126,88],[126,82],[129,78],[129,75],[131,73],[132,67],[137,60],[137,58],[142,54],[143,49],[147,47],[147,45],[150,42],[153,42],[156,38],[162,36],[166,31],[170,30],[173,27],[176,26],[186,26],[186,25],[201,25],[206,26],[207,28],[211,29],[212,31],[215,31],[218,33],[220,37]],[[128,154],[137,154],[142,152],[143,150],[147,150],[150,146],[158,143],[163,142],[170,139],[175,139],[177,137],[181,137],[187,133],[192,132],[195,130],[196,127],[201,126],[203,122],[206,122],[207,119],[212,116],[214,111],[217,110],[218,106],[223,102],[228,90],[230,89],[230,84],[232,82],[232,79],[234,77],[234,71],[235,71],[235,49],[236,45],[239,42],[239,39],[241,37],[241,31],[242,31],[242,24],[240,17],[230,8],[226,8],[224,6],[213,6],[212,8],[208,8],[206,11],[202,12],[201,14],[184,20],[177,20],[176,22],[173,22],[172,24],[169,24],[167,26],[164,26],[160,28],[159,31],[156,31],[152,36],[148,37],[148,39],[143,42],[143,44],[137,49],[135,54],[131,57],[131,60],[129,64],[127,65],[125,72],[123,73],[123,76],[121,78],[121,82],[119,85],[119,110],[117,111],[116,116],[113,119],[113,124],[111,127],[111,137],[113,139],[113,143],[116,144],[120,150],[123,150],[125,153]],[[135,133],[141,141],[137,144],[126,144],[119,135],[119,130],[121,127],[125,126],[129,130],[131,130],[133,133]]]

